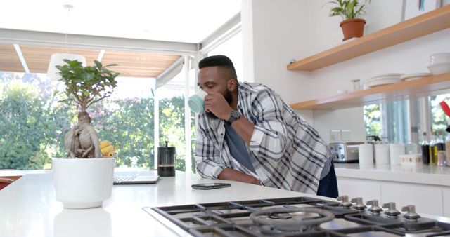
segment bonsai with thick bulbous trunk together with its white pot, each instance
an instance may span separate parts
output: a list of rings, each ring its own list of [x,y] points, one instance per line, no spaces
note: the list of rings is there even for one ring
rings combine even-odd
[[[82,66],[77,60],[64,60],[56,66],[65,84],[66,104],[78,109],[78,121],[65,135],[65,158],[53,158],[52,170],[56,199],[65,208],[95,208],[110,198],[113,189],[115,158],[103,158],[98,134],[86,111],[92,104],[113,93],[120,74],[110,71],[101,62]]]

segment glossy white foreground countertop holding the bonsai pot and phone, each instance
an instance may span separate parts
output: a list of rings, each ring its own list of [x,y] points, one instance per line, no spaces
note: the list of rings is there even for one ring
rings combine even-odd
[[[0,191],[0,236],[178,236],[142,208],[311,196],[223,180],[231,187],[191,188],[199,182],[212,180],[176,172],[176,177],[161,177],[158,184],[115,185],[103,208],[70,210],[55,199],[51,170],[32,172]]]

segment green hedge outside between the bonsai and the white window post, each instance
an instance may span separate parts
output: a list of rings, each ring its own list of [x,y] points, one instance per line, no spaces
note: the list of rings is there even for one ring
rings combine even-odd
[[[104,100],[88,110],[99,139],[118,147],[117,166],[153,168],[153,106],[153,99],[133,98]]]

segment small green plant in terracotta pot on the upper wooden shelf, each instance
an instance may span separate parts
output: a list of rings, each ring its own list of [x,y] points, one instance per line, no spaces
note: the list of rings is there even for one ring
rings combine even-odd
[[[342,22],[340,22],[340,27],[344,33],[342,41],[363,36],[366,20],[359,18],[359,16],[366,13],[364,11],[366,3],[370,3],[371,0],[363,0],[363,2],[364,4],[361,4],[358,0],[336,0],[327,3],[335,5],[330,9],[329,16],[340,15],[342,17]]]

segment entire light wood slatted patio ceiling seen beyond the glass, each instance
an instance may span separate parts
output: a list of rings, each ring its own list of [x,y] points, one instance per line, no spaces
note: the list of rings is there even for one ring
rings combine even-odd
[[[100,50],[30,45],[20,45],[20,50],[32,73],[46,73],[53,53],[83,55],[88,65],[94,65],[94,60],[100,53]],[[103,65],[117,64],[110,69],[120,72],[122,76],[155,78],[180,57],[180,55],[106,50],[101,62]],[[12,44],[0,44],[0,71],[25,72]]]

